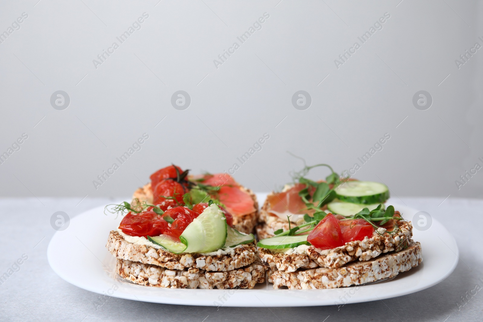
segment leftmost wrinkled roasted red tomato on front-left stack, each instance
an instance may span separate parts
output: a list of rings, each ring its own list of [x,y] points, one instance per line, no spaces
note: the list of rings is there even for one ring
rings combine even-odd
[[[129,236],[159,236],[170,230],[168,222],[154,211],[129,212],[121,221],[119,229]]]

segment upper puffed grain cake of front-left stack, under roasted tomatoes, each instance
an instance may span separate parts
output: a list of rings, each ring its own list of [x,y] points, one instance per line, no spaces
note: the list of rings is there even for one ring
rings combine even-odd
[[[253,243],[221,249],[208,254],[175,254],[162,248],[156,249],[151,245],[130,243],[114,230],[109,234],[106,248],[118,259],[161,266],[171,270],[197,268],[214,272],[229,271],[250,265],[257,258],[256,247]]]

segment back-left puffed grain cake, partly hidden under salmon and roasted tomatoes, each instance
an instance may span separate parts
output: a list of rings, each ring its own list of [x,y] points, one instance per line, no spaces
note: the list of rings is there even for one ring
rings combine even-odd
[[[253,232],[256,223],[258,222],[258,201],[255,193],[251,189],[245,187],[239,187],[241,191],[244,191],[250,195],[254,202],[255,211],[245,215],[233,215],[233,228],[246,234]],[[138,188],[132,195],[133,206],[136,205],[136,199],[139,201],[145,201],[148,204],[153,203],[153,191],[151,189],[151,182]],[[273,236],[273,235],[272,235]]]

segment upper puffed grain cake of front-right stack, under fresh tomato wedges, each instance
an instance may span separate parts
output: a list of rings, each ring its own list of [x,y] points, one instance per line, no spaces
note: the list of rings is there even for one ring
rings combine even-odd
[[[343,246],[321,250],[312,245],[300,245],[290,249],[258,248],[264,265],[270,269],[295,272],[298,268],[338,268],[353,261],[368,261],[387,252],[400,251],[412,242],[411,222],[399,221],[398,230],[389,234],[380,228],[380,235],[374,231],[371,238],[354,240]]]

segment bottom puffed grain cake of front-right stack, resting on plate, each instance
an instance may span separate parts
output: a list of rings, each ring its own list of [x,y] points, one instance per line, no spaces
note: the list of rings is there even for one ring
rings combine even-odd
[[[365,262],[352,262],[339,268],[318,267],[295,272],[269,268],[268,280],[273,288],[327,289],[360,285],[397,276],[423,262],[421,244],[411,243],[400,252],[390,252]]]

